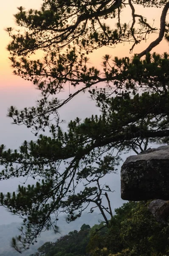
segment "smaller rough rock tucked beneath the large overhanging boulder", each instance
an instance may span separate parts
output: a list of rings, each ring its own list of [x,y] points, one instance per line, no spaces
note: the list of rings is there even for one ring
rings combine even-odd
[[[169,201],[154,200],[149,204],[149,211],[154,215],[157,221],[168,224],[169,220]]]

